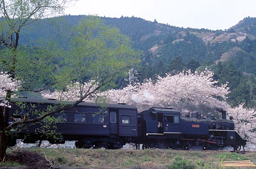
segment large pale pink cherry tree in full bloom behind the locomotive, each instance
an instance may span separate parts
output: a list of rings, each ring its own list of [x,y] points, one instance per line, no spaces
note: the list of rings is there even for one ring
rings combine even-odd
[[[154,82],[151,79],[145,80],[138,86],[138,95],[144,97],[154,97],[151,99],[152,105],[171,106],[173,103],[188,102],[193,105],[200,103],[210,106],[226,107],[227,103],[217,98],[225,100],[229,93],[226,84],[217,86],[218,81],[213,80],[213,72],[204,70],[203,72],[183,71],[179,74],[166,74],[166,77],[157,76]]]

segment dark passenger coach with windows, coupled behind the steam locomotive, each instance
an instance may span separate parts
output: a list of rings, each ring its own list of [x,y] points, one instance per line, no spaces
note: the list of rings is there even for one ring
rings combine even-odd
[[[35,100],[19,98],[15,102],[26,103],[25,109],[20,109],[16,104],[12,105],[9,123],[14,119],[22,118],[30,109],[46,110],[48,106],[58,104],[56,100]],[[35,106],[35,107],[34,107]],[[62,140],[51,140],[40,137],[35,133],[39,128],[37,124],[29,126],[19,133],[18,139],[24,139],[24,143],[35,143],[37,140],[48,140],[50,143],[64,143],[65,140],[76,141],[77,148],[105,147],[119,149],[126,142],[131,142],[138,136],[137,108],[124,104],[107,104],[102,108],[96,103],[79,103],[73,109],[67,109],[63,113],[54,116],[62,116],[64,123],[57,124],[57,132],[63,136]],[[13,117],[12,115],[15,115]],[[31,133],[29,137],[25,134]]]

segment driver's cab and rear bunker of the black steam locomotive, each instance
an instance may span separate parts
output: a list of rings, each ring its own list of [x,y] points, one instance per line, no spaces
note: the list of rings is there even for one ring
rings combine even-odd
[[[152,107],[139,115],[139,136],[143,138],[146,147],[168,148],[172,144],[170,138],[181,138],[180,111]]]

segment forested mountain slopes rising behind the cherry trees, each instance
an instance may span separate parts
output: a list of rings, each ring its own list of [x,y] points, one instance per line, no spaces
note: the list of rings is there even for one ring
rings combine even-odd
[[[21,45],[54,43],[66,49],[72,28],[85,16],[47,18],[23,29]],[[247,17],[225,31],[179,28],[137,17],[102,17],[131,37],[134,48],[144,52],[140,80],[155,74],[173,73],[185,68],[212,69],[220,83],[229,82],[230,103],[245,102],[255,106],[256,100],[256,18]]]

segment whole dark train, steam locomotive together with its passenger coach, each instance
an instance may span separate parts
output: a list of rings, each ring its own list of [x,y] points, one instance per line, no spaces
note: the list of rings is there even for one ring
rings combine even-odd
[[[58,104],[55,100],[35,100],[18,98],[16,102],[26,103],[23,109],[12,104],[9,123],[23,118],[31,109],[44,110]],[[15,102],[14,102],[15,103]],[[24,108],[25,107],[25,108]],[[57,124],[57,132],[62,138],[48,138],[36,132],[38,124],[27,126],[10,138],[13,146],[16,139],[24,143],[48,140],[50,143],[64,143],[76,140],[77,148],[119,149],[125,143],[134,143],[138,149],[223,149],[232,146],[239,150],[246,145],[234,128],[232,120],[226,119],[226,112],[221,112],[221,120],[216,120],[214,113],[202,117],[200,112],[181,117],[180,111],[172,108],[152,107],[137,114],[135,106],[125,104],[108,104],[102,109],[95,103],[79,103],[73,109],[56,113],[62,116],[64,123]],[[27,135],[29,133],[29,135]]]

